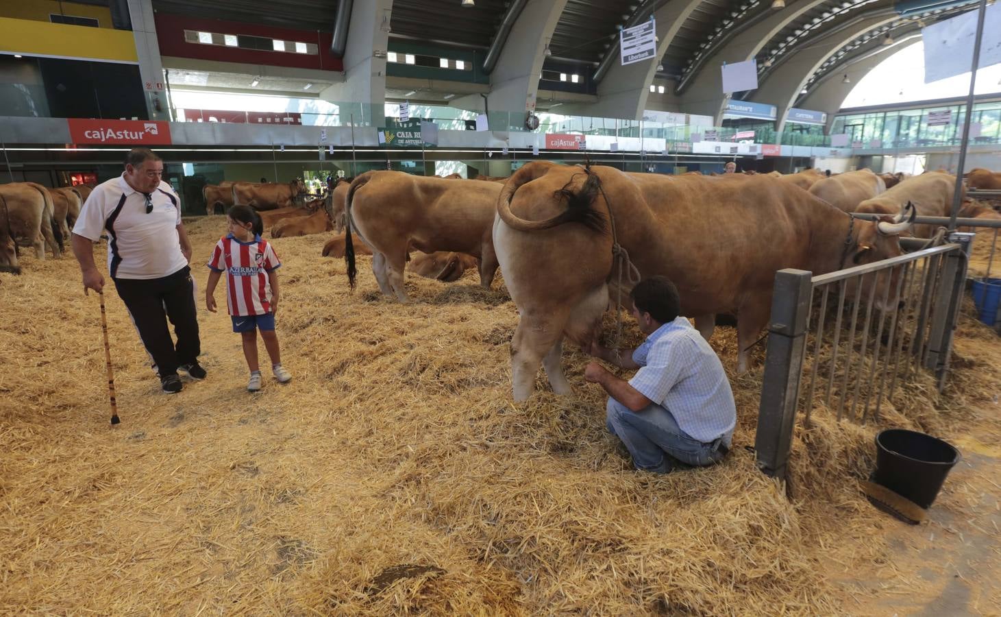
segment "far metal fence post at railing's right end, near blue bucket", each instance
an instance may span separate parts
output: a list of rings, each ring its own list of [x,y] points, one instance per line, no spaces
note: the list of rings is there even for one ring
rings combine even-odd
[[[974,235],[959,231],[949,234],[949,242],[959,244],[960,249],[949,252],[945,258],[932,331],[928,338],[928,362],[925,365],[935,372],[939,391],[945,387],[949,359],[952,357],[952,339],[959,324],[959,313],[966,292],[966,265]]]

